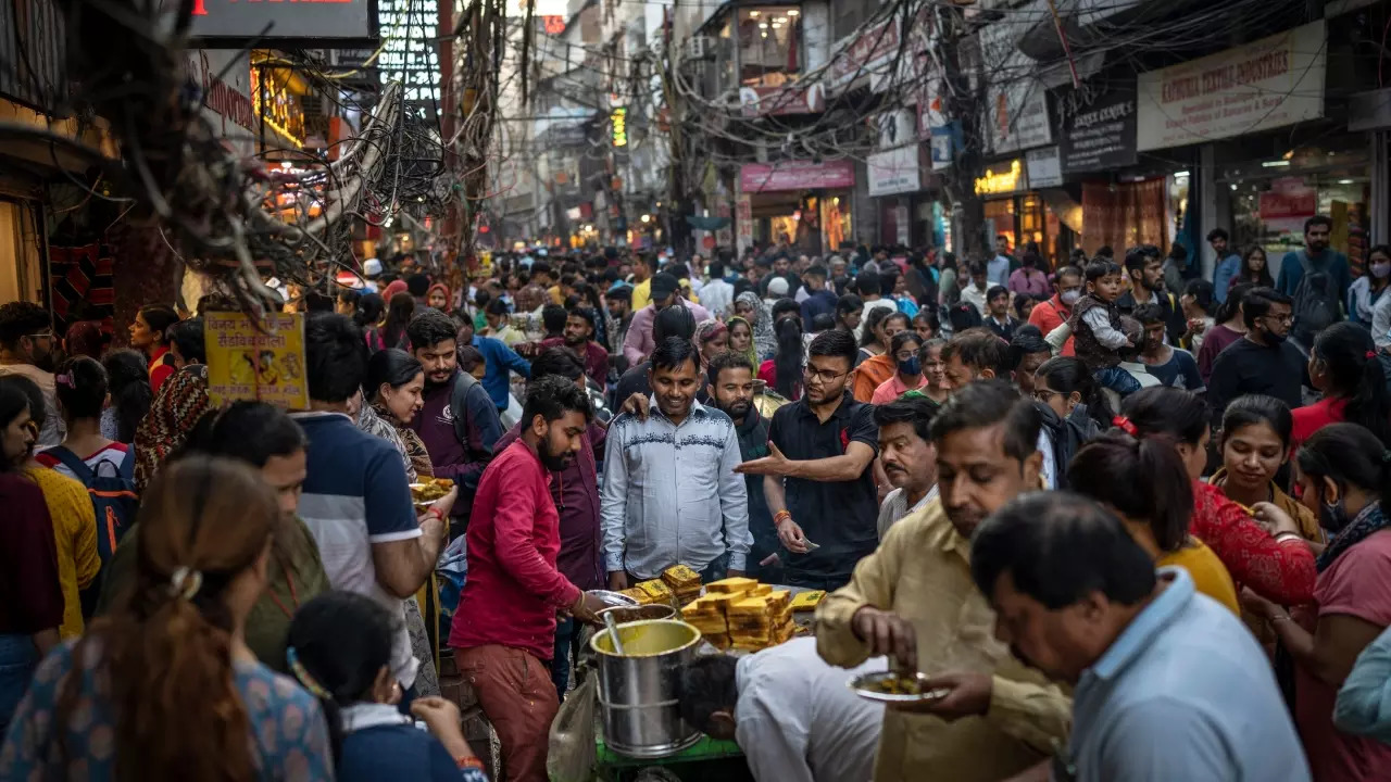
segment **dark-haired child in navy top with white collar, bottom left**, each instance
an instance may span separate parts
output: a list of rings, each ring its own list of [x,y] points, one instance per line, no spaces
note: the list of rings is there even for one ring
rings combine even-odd
[[[295,612],[285,658],[324,704],[339,782],[487,782],[483,763],[459,729],[459,707],[441,697],[410,701],[416,728],[396,707],[391,675],[391,615],[349,591],[324,593]]]

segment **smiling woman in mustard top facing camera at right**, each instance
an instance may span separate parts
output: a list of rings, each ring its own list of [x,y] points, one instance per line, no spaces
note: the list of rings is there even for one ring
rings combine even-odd
[[[1257,502],[1280,508],[1317,554],[1324,543],[1319,519],[1276,484],[1276,473],[1289,461],[1292,431],[1294,416],[1280,399],[1262,394],[1232,399],[1221,416],[1221,469],[1207,483],[1246,508]]]

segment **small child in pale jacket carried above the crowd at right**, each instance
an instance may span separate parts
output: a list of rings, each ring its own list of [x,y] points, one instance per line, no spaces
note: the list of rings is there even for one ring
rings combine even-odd
[[[1086,266],[1086,294],[1072,306],[1071,328],[1077,358],[1099,384],[1121,397],[1139,391],[1136,381],[1121,369],[1118,349],[1131,344],[1121,333],[1121,312],[1116,299],[1124,291],[1124,273],[1113,260],[1096,259]]]

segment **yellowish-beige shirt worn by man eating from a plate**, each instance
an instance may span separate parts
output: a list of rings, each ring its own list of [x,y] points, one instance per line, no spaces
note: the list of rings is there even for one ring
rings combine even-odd
[[[970,541],[933,500],[889,527],[850,583],[817,608],[817,648],[832,665],[858,665],[869,655],[850,618],[871,605],[912,623],[924,673],[995,676],[983,717],[946,722],[886,708],[875,782],[996,782],[1050,757],[1054,742],[1067,746],[1070,693],[995,639],[995,611],[971,580],[970,552]]]

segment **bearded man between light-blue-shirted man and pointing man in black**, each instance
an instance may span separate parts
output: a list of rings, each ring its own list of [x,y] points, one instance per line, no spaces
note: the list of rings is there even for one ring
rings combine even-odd
[[[768,419],[754,405],[754,365],[748,356],[725,351],[709,359],[705,367],[709,387],[709,401],[734,422],[739,436],[739,455],[746,462],[768,455]],[[744,490],[748,495],[748,533],[753,545],[748,555],[748,575],[764,583],[783,583],[778,529],[768,511],[764,495],[764,477],[744,476]]]

